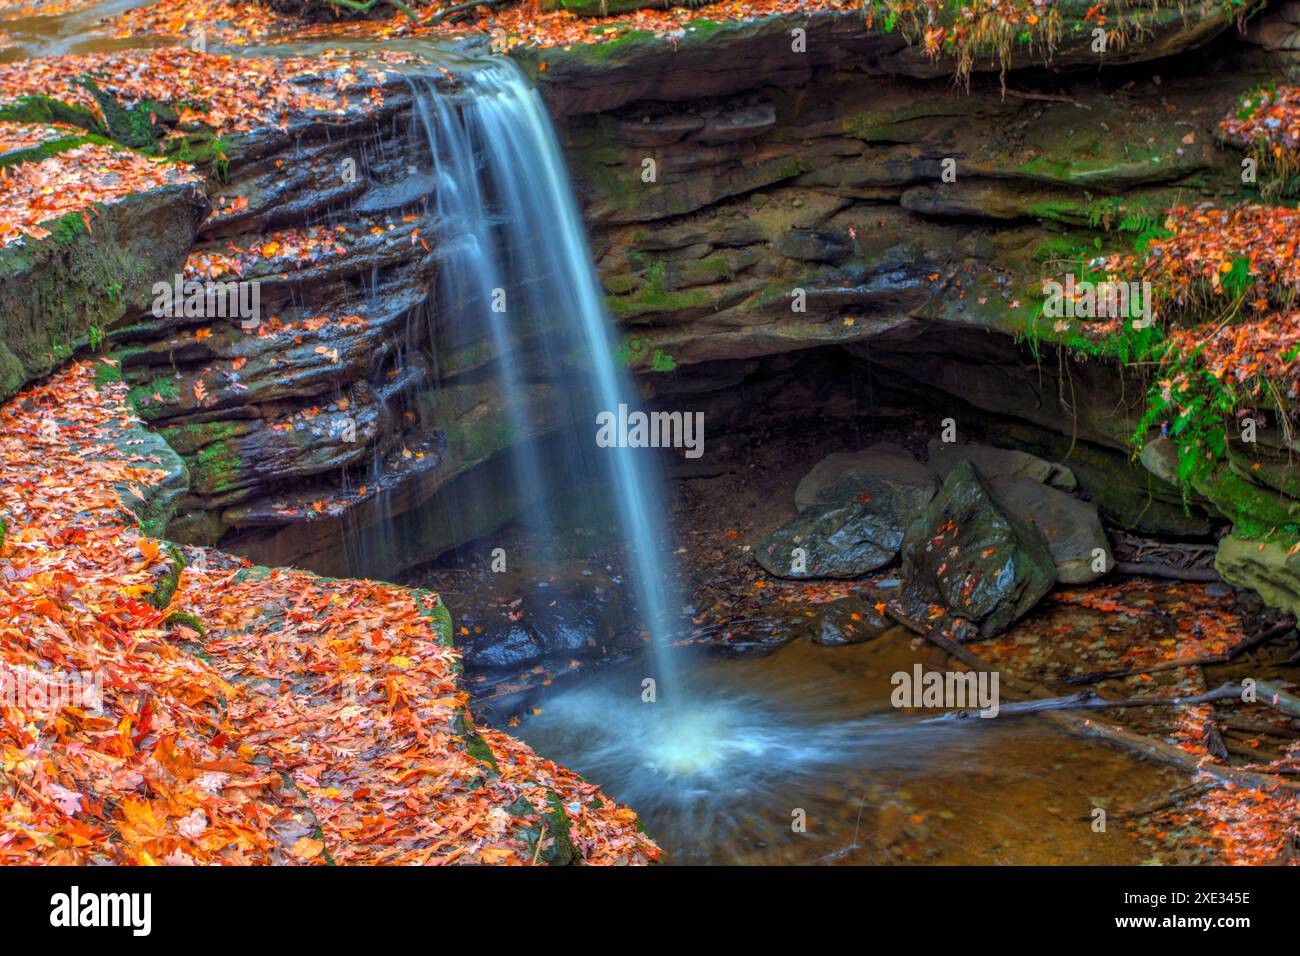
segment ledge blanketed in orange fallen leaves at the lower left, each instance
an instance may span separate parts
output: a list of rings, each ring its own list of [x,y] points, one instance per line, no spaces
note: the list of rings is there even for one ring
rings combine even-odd
[[[125,392],[77,364],[0,410],[0,861],[656,858],[473,727],[436,594],[143,533],[121,494],[165,472]]]

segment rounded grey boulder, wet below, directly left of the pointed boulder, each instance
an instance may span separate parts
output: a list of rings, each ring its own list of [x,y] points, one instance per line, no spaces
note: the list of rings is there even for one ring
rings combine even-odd
[[[828,455],[796,490],[800,509],[759,542],[777,578],[861,578],[892,562],[909,523],[935,497],[930,471],[898,446]]]

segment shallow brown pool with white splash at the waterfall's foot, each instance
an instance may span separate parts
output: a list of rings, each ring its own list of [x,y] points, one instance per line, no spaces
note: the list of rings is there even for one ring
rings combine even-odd
[[[901,631],[682,653],[688,706],[644,702],[632,663],[554,691],[517,731],[636,809],[670,862],[1134,864],[1149,852],[1115,810],[1179,782],[1030,719],[892,709],[889,676],[926,653]]]

